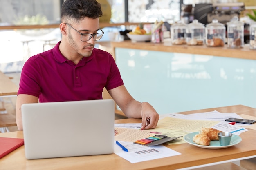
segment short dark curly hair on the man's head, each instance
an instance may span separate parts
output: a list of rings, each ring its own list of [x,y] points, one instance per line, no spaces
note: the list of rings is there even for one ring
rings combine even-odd
[[[61,7],[61,22],[63,20],[79,21],[83,18],[98,18],[103,15],[101,4],[96,0],[66,0]]]

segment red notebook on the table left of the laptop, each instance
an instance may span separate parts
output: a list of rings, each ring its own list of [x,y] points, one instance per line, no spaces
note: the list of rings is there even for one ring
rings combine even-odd
[[[0,137],[0,158],[24,145],[24,139]]]

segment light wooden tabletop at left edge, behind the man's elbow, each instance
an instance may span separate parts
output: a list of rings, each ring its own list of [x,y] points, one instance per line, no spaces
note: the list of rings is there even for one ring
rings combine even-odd
[[[17,95],[18,86],[0,71],[0,97]]]

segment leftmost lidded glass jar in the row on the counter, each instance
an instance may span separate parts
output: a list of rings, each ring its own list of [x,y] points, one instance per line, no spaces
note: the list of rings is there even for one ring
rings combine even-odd
[[[187,24],[182,22],[173,24],[171,26],[171,42],[172,44],[182,45],[186,44],[185,34],[186,34]]]

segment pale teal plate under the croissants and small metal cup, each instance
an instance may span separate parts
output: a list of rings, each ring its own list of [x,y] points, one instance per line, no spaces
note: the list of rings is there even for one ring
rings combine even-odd
[[[221,146],[220,145],[220,141],[211,141],[210,146],[204,146],[204,145],[198,145],[195,142],[193,142],[193,137],[198,134],[199,132],[193,132],[193,133],[189,133],[187,135],[184,136],[184,140],[192,145],[198,146],[200,148],[207,148],[207,149],[220,149],[220,148],[228,148],[230,146],[239,144],[242,141],[242,138],[239,137],[238,135],[232,135],[231,137],[231,141],[229,145],[226,146]]]

